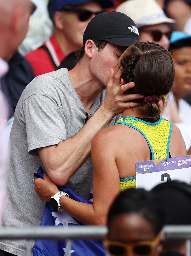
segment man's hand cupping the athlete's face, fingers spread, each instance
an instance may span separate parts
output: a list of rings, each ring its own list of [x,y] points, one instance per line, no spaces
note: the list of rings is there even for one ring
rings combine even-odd
[[[101,105],[102,108],[105,108],[113,116],[122,113],[124,109],[134,108],[139,105],[139,103],[127,101],[141,99],[144,97],[140,94],[124,93],[126,90],[133,88],[135,86],[135,83],[121,83],[122,73],[122,68],[116,67],[115,70],[111,68],[109,80],[107,83],[106,96],[103,104]]]

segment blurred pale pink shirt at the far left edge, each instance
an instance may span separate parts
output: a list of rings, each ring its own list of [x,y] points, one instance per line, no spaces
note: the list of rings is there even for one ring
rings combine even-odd
[[[8,71],[8,64],[0,58],[0,78]],[[8,108],[5,97],[0,90],[0,226],[2,224],[3,208],[5,205],[5,159],[6,136],[4,126],[8,117]]]

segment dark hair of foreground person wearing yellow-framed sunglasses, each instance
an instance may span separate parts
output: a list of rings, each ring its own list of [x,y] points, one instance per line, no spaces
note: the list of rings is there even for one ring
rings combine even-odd
[[[112,220],[121,214],[136,213],[149,221],[156,234],[164,225],[164,212],[161,207],[153,204],[152,192],[145,189],[126,189],[114,200],[108,214],[108,228]]]

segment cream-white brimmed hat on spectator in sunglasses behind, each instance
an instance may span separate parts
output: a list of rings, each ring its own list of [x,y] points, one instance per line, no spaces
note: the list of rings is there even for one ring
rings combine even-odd
[[[116,11],[128,15],[138,28],[161,23],[176,23],[174,19],[165,15],[155,0],[128,0],[120,4]]]

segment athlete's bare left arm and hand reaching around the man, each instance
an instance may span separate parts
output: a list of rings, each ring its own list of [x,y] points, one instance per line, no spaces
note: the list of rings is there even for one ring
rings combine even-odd
[[[84,224],[106,225],[110,205],[120,191],[112,133],[108,134],[107,129],[98,132],[92,140],[93,205],[66,196],[60,198],[61,208]],[[59,190],[44,174],[44,179],[35,179],[35,191],[41,200],[50,201]]]

